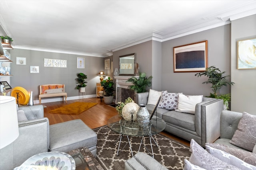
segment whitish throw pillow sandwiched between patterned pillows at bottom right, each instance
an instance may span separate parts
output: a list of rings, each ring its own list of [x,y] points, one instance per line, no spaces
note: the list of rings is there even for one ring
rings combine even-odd
[[[218,150],[215,148],[210,147],[209,145],[206,145],[206,150],[209,152],[211,155],[215,156],[216,158],[222,160],[223,162],[226,162],[228,164],[234,165],[237,168],[240,168],[242,170],[256,170],[256,167],[253,165],[250,165],[236,156],[229,154],[227,152],[224,152],[222,150]]]

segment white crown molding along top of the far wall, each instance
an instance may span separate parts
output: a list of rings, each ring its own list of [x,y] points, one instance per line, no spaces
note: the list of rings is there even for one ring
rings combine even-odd
[[[77,51],[63,51],[63,50],[56,50],[56,49],[46,49],[46,48],[38,48],[38,47],[32,47],[32,46],[21,46],[21,45],[15,45],[12,46],[15,49],[25,49],[25,50],[34,50],[34,51],[46,51],[46,52],[52,52],[52,53],[64,53],[64,54],[74,54],[74,55],[84,55],[84,56],[91,56],[91,57],[106,57],[102,54],[95,54],[95,53],[82,53]]]

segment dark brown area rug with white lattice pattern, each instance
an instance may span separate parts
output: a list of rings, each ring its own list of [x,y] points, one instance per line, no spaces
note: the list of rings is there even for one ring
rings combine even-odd
[[[124,161],[132,157],[129,145],[126,145],[124,150],[116,156],[118,149],[118,143],[116,143],[116,141],[119,134],[109,129],[108,126],[93,130],[98,135],[98,161],[106,170],[124,170]],[[159,145],[159,147],[156,147],[156,145],[153,144],[154,158],[170,170],[182,170],[184,167],[184,159],[189,159],[191,155],[190,148],[161,134],[153,135],[153,137]],[[120,148],[123,148],[127,141],[126,137],[122,138]],[[132,139],[130,139],[134,155],[138,152],[140,141],[141,137],[132,137]],[[116,145],[114,145],[115,143]],[[151,150],[148,137],[144,138],[144,143],[146,147]],[[148,153],[143,145],[140,148],[140,152]]]

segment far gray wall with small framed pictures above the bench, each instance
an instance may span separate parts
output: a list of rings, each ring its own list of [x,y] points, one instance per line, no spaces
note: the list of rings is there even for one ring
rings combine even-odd
[[[98,72],[104,70],[104,58],[63,53],[51,53],[24,49],[10,50],[12,88],[21,86],[28,92],[33,91],[33,99],[38,100],[39,85],[65,84],[68,97],[79,96],[76,90],[76,74],[87,75],[86,95],[96,94],[96,82],[100,82]],[[26,65],[17,65],[16,57],[26,57]],[[77,57],[85,58],[85,68],[77,68]],[[67,60],[67,68],[44,67],[44,58]],[[39,73],[30,73],[30,66],[39,66]]]

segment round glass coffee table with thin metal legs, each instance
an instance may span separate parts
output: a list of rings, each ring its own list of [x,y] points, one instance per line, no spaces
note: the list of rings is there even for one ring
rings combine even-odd
[[[151,154],[151,156],[154,158],[154,152],[153,152],[153,147],[152,147],[152,141],[154,141],[154,143],[156,144],[157,147],[159,147],[156,143],[156,141],[154,140],[154,138],[152,137],[152,135],[155,135],[157,133],[162,132],[165,127],[166,127],[166,123],[164,120],[158,118],[158,117],[153,117],[149,124],[148,127],[146,127],[146,130],[140,130],[140,127],[138,125],[138,123],[136,121],[126,121],[124,120],[121,116],[119,115],[115,115],[113,117],[111,117],[110,119],[108,119],[108,127],[116,132],[119,133],[119,138],[117,139],[116,143],[119,142],[118,144],[118,150],[116,155],[118,156],[118,154],[120,152],[122,152],[122,150],[124,149],[124,147],[126,147],[127,144],[129,144],[132,156],[133,156],[133,152],[132,152],[132,146],[130,143],[130,139],[135,136],[135,137],[142,137],[141,141],[140,141],[140,147],[142,145],[142,141],[144,139],[144,137],[149,137],[150,140],[150,146],[151,146],[151,153],[149,152],[149,150],[146,148],[146,146],[144,145],[144,147],[146,148],[146,150]],[[124,145],[123,149],[120,149],[120,143],[122,141],[123,137],[127,137],[128,139],[128,143],[126,143],[126,145]],[[115,144],[116,144],[115,143]],[[138,152],[140,151],[140,147]],[[120,150],[120,152],[119,152]]]

